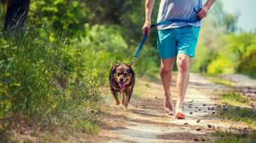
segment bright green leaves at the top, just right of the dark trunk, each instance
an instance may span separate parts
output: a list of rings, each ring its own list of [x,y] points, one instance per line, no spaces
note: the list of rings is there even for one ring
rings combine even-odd
[[[83,29],[85,17],[88,15],[85,6],[86,3],[81,1],[32,0],[29,15],[38,25],[51,21],[51,27],[55,32],[73,36]]]

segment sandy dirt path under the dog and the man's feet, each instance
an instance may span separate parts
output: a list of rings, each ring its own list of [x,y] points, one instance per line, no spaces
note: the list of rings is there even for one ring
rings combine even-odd
[[[172,80],[172,96],[176,101],[176,75]],[[215,113],[216,94],[222,85],[211,83],[191,73],[184,104],[185,120],[177,120],[164,111],[164,92],[160,80],[147,82],[138,79],[129,104],[113,107],[109,89],[102,89],[104,103],[110,105],[110,115],[102,121],[102,130],[88,142],[195,142],[214,139],[210,132],[230,126],[246,127],[236,122],[222,122],[210,116]],[[199,121],[200,120],[200,121]],[[197,123],[199,121],[199,123]]]

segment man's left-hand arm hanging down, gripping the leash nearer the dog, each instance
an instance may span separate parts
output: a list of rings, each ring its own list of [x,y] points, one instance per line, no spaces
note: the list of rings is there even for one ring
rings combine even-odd
[[[151,13],[154,7],[155,0],[146,0],[145,2],[145,23],[142,28],[143,35],[148,34],[150,35],[150,26],[151,26]]]

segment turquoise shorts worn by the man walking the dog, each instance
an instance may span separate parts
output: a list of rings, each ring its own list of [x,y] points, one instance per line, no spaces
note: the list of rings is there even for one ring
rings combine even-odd
[[[161,58],[171,58],[178,53],[194,57],[199,31],[200,27],[195,26],[158,30],[158,54]]]

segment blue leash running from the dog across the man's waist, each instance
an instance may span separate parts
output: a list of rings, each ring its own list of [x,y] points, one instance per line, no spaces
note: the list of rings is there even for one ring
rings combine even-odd
[[[195,11],[195,13],[198,13],[200,11],[201,7],[199,6],[194,6],[193,7],[193,11]],[[199,21],[200,19],[170,19],[170,20],[166,20],[166,21],[160,21],[158,23],[154,23],[150,26],[150,28],[154,28],[156,26],[161,26],[163,24],[166,24],[166,23],[170,23],[170,22],[186,22],[186,23],[195,23],[197,21]],[[141,40],[141,43],[139,44],[139,48],[137,49],[135,55],[134,55],[134,58],[133,60],[131,60],[131,65],[133,65],[133,62],[135,61],[135,59],[137,58],[137,56],[139,56],[139,52],[143,46],[143,44],[145,43],[146,39],[148,37],[148,34],[146,32],[146,34],[143,36],[143,39]]]

